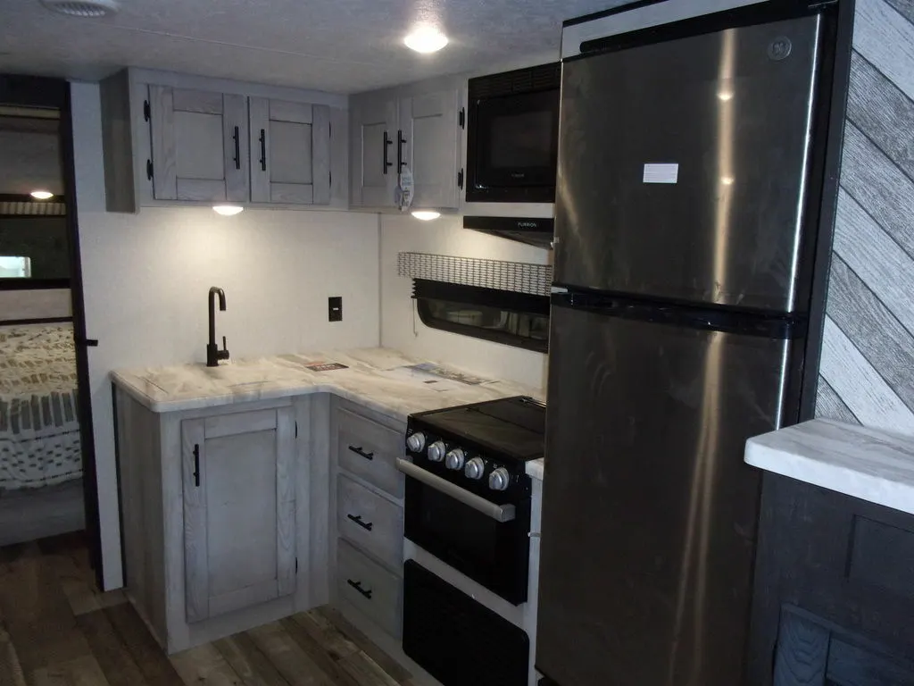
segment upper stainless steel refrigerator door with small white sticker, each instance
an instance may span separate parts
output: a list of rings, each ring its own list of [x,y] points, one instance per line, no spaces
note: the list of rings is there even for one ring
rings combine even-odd
[[[820,21],[564,62],[556,282],[782,312],[804,303]]]

